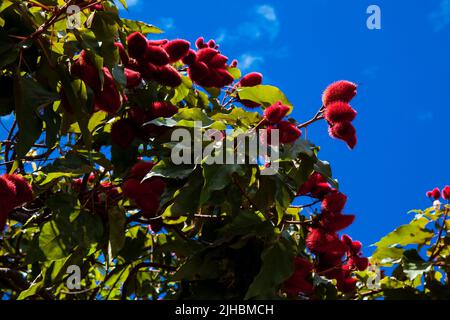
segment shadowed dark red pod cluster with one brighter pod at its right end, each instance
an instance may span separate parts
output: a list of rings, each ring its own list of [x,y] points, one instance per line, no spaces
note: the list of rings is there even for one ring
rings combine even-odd
[[[153,102],[148,108],[131,107],[127,110],[127,118],[116,121],[111,127],[111,139],[119,147],[125,149],[135,138],[148,140],[164,132],[164,127],[147,124],[157,118],[170,118],[178,112],[178,108],[168,102]]]

